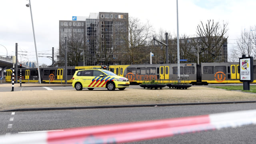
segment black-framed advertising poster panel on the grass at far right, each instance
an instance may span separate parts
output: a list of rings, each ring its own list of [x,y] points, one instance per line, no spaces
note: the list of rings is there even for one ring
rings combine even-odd
[[[253,82],[253,58],[239,58],[240,82]]]

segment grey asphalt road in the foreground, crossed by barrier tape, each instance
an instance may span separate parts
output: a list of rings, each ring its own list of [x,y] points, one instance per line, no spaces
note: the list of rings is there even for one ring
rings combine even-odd
[[[136,122],[256,109],[255,103],[0,112],[0,134]],[[177,135],[134,144],[255,144],[256,125]]]

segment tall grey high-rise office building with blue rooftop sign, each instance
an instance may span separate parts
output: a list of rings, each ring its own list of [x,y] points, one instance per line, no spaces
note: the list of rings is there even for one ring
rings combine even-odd
[[[81,56],[76,56],[78,65],[122,64],[124,48],[128,45],[128,13],[99,12],[90,13],[88,17],[73,16],[72,20],[59,21],[59,34],[58,66],[64,66],[65,62],[65,37],[68,50],[73,51],[68,61],[75,55],[74,51],[80,51]]]

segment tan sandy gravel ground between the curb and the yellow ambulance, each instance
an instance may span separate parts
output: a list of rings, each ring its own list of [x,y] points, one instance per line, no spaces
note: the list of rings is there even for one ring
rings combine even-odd
[[[70,86],[71,84],[67,84]],[[20,86],[14,84],[15,87]],[[22,86],[64,86],[64,84],[22,84]],[[0,84],[10,88],[11,84]],[[127,88],[77,90],[32,90],[0,93],[0,110],[17,108],[51,108],[75,106],[108,106],[130,104],[171,104],[194,102],[255,101],[256,94],[222,90],[210,87],[192,86],[187,90],[150,90]]]

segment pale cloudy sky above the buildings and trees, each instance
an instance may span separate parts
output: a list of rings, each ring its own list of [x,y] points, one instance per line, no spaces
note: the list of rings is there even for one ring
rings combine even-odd
[[[177,34],[176,0],[30,0],[38,56],[52,56],[59,48],[59,20],[72,16],[89,16],[98,12],[126,12],[154,27]],[[18,60],[36,62],[28,0],[0,0],[0,55],[15,55]],[[256,0],[178,0],[180,36],[196,35],[196,26],[202,21],[228,23],[228,52],[244,30],[256,29]],[[1,46],[3,45],[3,46]],[[7,52],[6,52],[6,49]],[[54,58],[56,60],[56,58]],[[39,65],[50,65],[52,60],[38,57]]]

